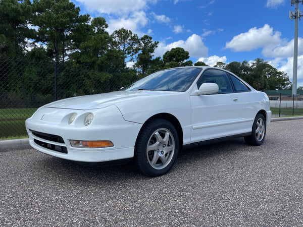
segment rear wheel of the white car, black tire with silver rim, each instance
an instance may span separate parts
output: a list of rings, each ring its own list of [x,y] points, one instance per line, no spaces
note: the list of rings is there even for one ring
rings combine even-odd
[[[247,144],[252,146],[260,146],[263,144],[266,135],[266,121],[262,113],[258,113],[252,124],[250,136],[245,136],[244,140]]]

